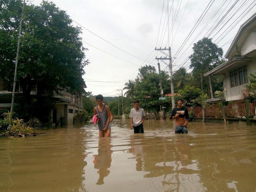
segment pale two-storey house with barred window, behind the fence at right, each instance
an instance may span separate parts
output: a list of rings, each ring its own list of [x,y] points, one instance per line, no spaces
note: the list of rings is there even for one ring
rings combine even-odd
[[[256,72],[256,13],[240,26],[225,58],[227,62],[204,76],[223,75],[225,100],[241,100],[247,77]]]

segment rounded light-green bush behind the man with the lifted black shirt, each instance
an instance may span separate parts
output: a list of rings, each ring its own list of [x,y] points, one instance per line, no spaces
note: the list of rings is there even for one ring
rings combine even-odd
[[[194,105],[193,100],[201,95],[201,90],[194,86],[186,85],[185,88],[179,90],[178,93],[187,106],[192,106]]]

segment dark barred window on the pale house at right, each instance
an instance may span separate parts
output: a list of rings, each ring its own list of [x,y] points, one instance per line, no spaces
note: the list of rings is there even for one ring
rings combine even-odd
[[[235,87],[247,83],[247,67],[242,66],[230,72],[230,85]]]

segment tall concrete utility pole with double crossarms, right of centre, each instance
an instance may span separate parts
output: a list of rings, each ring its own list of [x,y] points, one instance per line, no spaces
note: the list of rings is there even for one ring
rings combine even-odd
[[[171,79],[171,102],[172,102],[172,108],[175,107],[175,100],[174,100],[174,85],[173,85],[173,66],[172,66],[172,59],[171,59],[171,47],[169,48],[159,48],[156,49],[157,51],[160,51],[161,53],[163,53],[164,55],[166,55],[166,57],[159,57],[156,59],[157,60],[161,60],[162,62],[164,62],[167,66],[169,66],[169,70],[170,70],[170,79]],[[169,51],[169,55],[166,54],[164,51],[168,50]],[[169,64],[167,64],[164,60],[169,60]]]

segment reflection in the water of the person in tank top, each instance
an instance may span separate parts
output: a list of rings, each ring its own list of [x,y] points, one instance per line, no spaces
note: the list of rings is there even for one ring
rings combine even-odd
[[[97,185],[104,184],[104,177],[107,177],[110,173],[108,168],[111,166],[111,150],[110,150],[110,141],[111,138],[103,137],[99,138],[99,145],[98,145],[98,154],[93,155],[94,160],[94,168],[99,169],[97,173],[100,175]]]

